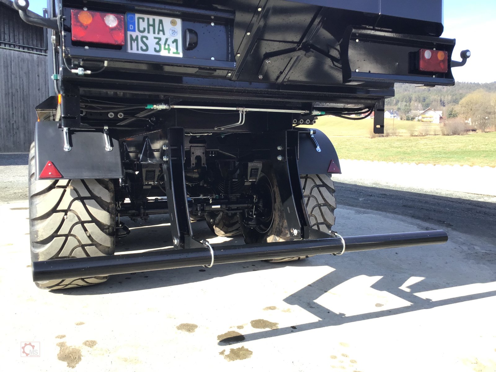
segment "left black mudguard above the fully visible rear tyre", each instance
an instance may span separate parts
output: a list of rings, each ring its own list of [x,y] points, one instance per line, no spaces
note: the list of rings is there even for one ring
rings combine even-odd
[[[62,174],[59,179],[123,178],[119,140],[112,136],[112,151],[105,150],[102,131],[71,129],[71,149],[65,151],[64,133],[58,122],[38,122],[35,127],[36,179],[48,162]]]

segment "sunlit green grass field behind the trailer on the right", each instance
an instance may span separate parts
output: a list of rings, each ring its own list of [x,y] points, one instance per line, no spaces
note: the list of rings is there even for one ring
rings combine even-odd
[[[392,128],[392,120],[385,125]],[[496,132],[466,135],[429,135],[411,137],[411,125],[425,124],[395,120],[398,136],[370,138],[372,120],[351,121],[333,117],[320,118],[315,125],[331,139],[341,159],[387,162],[479,165],[496,167]],[[439,125],[431,124],[431,133]]]

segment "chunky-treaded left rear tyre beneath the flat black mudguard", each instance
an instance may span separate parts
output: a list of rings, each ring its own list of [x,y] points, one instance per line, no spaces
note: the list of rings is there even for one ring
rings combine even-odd
[[[111,180],[35,180],[34,143],[29,153],[31,261],[114,254],[116,207]],[[37,282],[66,289],[105,282],[107,276]]]

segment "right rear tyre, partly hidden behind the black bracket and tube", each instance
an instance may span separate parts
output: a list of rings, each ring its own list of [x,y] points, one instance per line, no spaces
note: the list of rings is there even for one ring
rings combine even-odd
[[[272,184],[274,197],[274,217],[272,226],[265,234],[254,232],[254,229],[247,229],[242,225],[245,243],[281,242],[292,240],[284,211],[282,200],[279,194],[273,171],[265,171],[265,175]],[[336,209],[336,199],[334,197],[334,183],[328,174],[321,175],[300,175],[303,190],[303,199],[309,215],[310,227],[326,233],[331,231],[335,223],[334,210]],[[267,260],[267,262],[288,262],[308,258],[309,256],[284,257]]]

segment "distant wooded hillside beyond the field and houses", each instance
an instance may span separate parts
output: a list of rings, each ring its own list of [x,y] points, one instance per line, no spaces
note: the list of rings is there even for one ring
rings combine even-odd
[[[425,110],[429,107],[442,111],[446,115],[460,103],[467,94],[477,90],[496,93],[496,81],[492,83],[456,82],[455,86],[436,86],[434,88],[417,88],[414,84],[394,85],[395,96],[386,99],[386,110],[395,108],[400,115],[406,116],[410,111]]]

